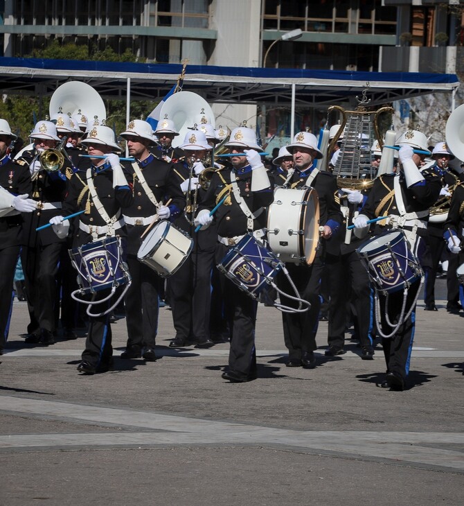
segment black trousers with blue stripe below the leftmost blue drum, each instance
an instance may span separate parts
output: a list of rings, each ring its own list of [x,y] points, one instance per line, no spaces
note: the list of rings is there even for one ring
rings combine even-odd
[[[93,300],[105,299],[111,290],[100,290],[95,294]],[[113,297],[118,297],[118,290]],[[94,314],[102,313],[114,302],[114,298],[91,306],[91,312]],[[93,367],[108,365],[113,355],[111,346],[111,325],[109,324],[110,315],[89,317],[89,334],[85,340],[85,349],[82,351],[82,360],[85,360]]]

